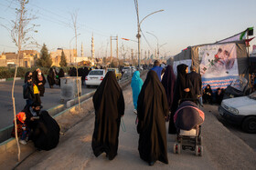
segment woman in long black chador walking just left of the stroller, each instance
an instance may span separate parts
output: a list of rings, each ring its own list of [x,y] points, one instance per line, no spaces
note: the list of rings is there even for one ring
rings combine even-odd
[[[137,102],[140,157],[149,165],[168,164],[165,118],[169,114],[165,88],[155,71],[149,71]]]

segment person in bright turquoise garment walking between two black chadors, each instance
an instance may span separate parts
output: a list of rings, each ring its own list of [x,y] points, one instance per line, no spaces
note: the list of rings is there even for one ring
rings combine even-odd
[[[137,114],[137,101],[143,85],[144,85],[144,81],[140,77],[140,72],[135,71],[133,74],[132,83],[131,83],[131,86],[133,89],[134,114]]]

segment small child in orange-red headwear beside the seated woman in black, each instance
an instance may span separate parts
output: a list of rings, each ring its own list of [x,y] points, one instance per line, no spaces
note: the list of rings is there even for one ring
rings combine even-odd
[[[25,124],[26,114],[25,112],[20,112],[16,115],[16,129],[17,137],[20,137],[19,143],[22,145],[27,145],[27,125]],[[14,123],[15,124],[15,123]],[[12,136],[16,137],[15,125],[12,131]]]

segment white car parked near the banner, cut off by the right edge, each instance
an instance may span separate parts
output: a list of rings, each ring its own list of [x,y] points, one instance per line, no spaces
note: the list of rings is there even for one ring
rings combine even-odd
[[[256,92],[248,96],[240,96],[222,100],[219,115],[233,124],[241,125],[248,133],[256,133]]]

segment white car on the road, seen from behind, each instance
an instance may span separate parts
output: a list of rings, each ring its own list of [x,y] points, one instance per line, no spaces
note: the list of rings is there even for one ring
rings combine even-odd
[[[85,85],[90,87],[90,85],[100,85],[101,81],[105,77],[106,73],[104,69],[95,69],[85,77]]]

